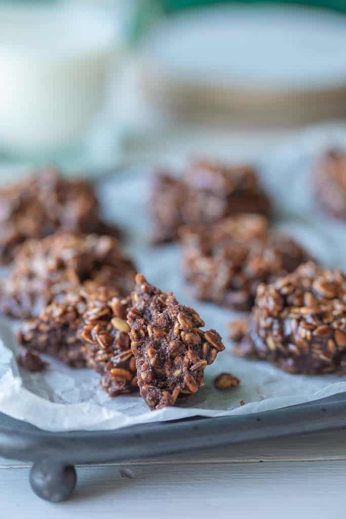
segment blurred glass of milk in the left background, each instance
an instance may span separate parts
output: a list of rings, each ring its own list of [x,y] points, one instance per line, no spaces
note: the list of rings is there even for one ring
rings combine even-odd
[[[47,157],[85,142],[119,57],[116,11],[96,2],[1,6],[0,151]]]

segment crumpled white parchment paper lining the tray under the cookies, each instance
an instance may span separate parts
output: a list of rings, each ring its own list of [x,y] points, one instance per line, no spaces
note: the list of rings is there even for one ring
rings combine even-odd
[[[315,207],[309,174],[316,155],[330,144],[346,145],[343,129],[310,130],[292,142],[258,158],[262,180],[278,207],[276,226],[304,243],[323,264],[346,267],[346,224],[336,222]],[[109,398],[100,376],[73,370],[52,359],[41,373],[28,373],[16,363],[20,347],[11,331],[13,323],[0,322],[0,411],[49,431],[102,430],[149,421],[188,416],[225,416],[265,411],[327,397],[346,391],[346,379],[337,375],[289,375],[264,361],[234,358],[227,339],[227,323],[236,313],[194,301],[180,274],[178,245],[150,249],[146,243],[149,221],[145,211],[148,170],[129,168],[100,188],[105,215],[128,230],[129,253],[139,270],[162,290],[173,291],[179,302],[196,308],[207,328],[218,330],[226,351],[205,370],[205,387],[175,407],[150,412],[138,393]],[[239,314],[238,314],[239,315]],[[241,379],[230,391],[214,388],[214,377],[228,371]],[[240,401],[245,405],[241,406]]]

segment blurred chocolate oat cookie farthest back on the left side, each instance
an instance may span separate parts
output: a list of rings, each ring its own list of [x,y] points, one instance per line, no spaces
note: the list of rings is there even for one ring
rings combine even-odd
[[[0,189],[0,263],[9,263],[16,247],[29,238],[42,238],[58,229],[117,236],[116,227],[101,221],[92,185],[64,179],[46,169]]]

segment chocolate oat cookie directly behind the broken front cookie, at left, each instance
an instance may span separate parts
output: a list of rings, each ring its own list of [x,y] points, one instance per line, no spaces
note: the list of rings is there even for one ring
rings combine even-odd
[[[87,280],[128,294],[135,267],[109,236],[61,231],[21,245],[9,276],[0,282],[0,311],[36,317],[55,298]]]

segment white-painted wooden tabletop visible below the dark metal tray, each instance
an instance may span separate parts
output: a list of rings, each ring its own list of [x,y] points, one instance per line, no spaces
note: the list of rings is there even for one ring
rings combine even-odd
[[[75,493],[59,504],[32,493],[29,471],[0,460],[0,517],[343,517],[346,430],[77,467]]]

